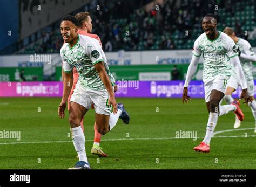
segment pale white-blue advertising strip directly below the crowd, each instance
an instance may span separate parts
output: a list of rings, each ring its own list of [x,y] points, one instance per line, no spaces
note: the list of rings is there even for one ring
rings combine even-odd
[[[256,51],[256,47],[253,47]],[[111,65],[144,65],[144,64],[189,64],[192,58],[191,50],[154,50],[154,51],[124,51],[105,52],[107,64]],[[45,57],[45,55],[47,55]],[[49,57],[50,56],[50,63]],[[33,57],[33,58],[32,58]],[[0,67],[51,67],[61,65],[59,53],[28,54],[0,56]],[[199,63],[203,63],[200,58]]]

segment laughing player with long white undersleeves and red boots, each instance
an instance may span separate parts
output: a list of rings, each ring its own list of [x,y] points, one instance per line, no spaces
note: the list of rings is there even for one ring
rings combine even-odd
[[[244,98],[246,103],[250,101],[250,98],[238,58],[238,49],[234,41],[227,34],[217,31],[217,20],[212,14],[203,18],[202,27],[205,32],[194,42],[193,56],[187,70],[182,101],[187,103],[187,100],[190,100],[190,96],[187,95],[187,87],[194,73],[196,73],[199,58],[203,55],[203,81],[209,118],[205,138],[199,146],[194,147],[194,150],[209,153],[211,137],[220,115],[235,111],[235,114],[241,120],[244,119],[238,101],[234,100],[232,105],[219,106],[220,100],[224,97],[226,84],[231,76],[232,67],[230,63],[234,65],[238,78],[241,80],[242,93],[240,98]]]

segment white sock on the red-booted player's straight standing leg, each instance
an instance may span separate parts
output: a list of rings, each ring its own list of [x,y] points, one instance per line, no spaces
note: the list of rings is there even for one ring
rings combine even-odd
[[[206,135],[203,140],[206,144],[210,144],[211,138],[213,136],[214,129],[216,127],[217,121],[218,121],[218,113],[210,112],[209,119],[206,127]]]

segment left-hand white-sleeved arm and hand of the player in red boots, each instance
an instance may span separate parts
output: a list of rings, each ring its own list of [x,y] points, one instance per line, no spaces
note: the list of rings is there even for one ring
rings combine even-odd
[[[198,65],[199,59],[200,59],[200,57],[193,55],[191,63],[188,66],[186,80],[184,83],[184,89],[183,89],[183,94],[182,94],[182,103],[184,103],[184,101],[187,103],[187,100],[191,100],[190,96],[187,95],[187,92],[188,92],[187,87],[188,87],[188,84],[190,83],[191,79],[193,78],[194,74],[197,71],[197,65]]]

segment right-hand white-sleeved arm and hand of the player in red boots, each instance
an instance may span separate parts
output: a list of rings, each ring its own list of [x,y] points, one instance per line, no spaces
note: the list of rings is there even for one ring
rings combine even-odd
[[[245,75],[244,75],[244,72],[242,72],[242,66],[240,64],[239,58],[238,58],[238,56],[235,56],[235,57],[231,58],[230,61],[231,61],[231,64],[235,67],[235,71],[237,72],[238,80],[240,80],[240,84],[242,87],[242,93],[241,93],[240,99],[244,98],[245,99],[244,103],[248,104],[248,102],[252,102],[252,101],[248,95]]]

